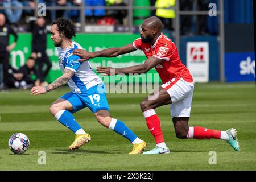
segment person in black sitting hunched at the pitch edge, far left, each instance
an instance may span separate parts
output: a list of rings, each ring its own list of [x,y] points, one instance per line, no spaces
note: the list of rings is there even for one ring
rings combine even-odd
[[[10,67],[8,80],[9,86],[15,86],[15,88],[23,90],[38,86],[40,81],[37,80],[34,58],[28,57],[26,64],[18,71]]]

